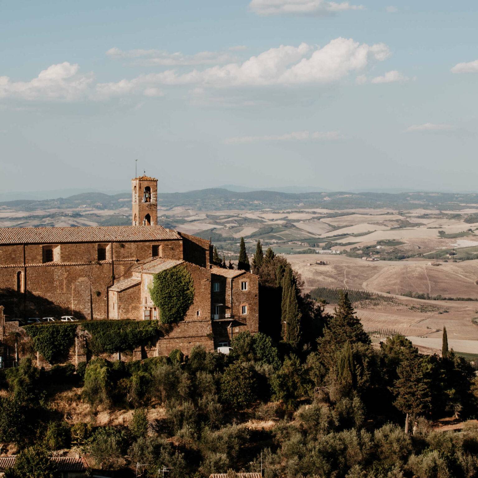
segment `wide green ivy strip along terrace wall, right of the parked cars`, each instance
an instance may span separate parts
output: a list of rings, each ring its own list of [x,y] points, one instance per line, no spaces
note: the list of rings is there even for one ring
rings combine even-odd
[[[93,320],[83,322],[81,326],[91,334],[88,348],[95,355],[150,345],[165,332],[157,320]]]

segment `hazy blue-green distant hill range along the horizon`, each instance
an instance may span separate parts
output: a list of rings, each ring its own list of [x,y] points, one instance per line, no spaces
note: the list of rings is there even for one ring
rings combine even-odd
[[[354,209],[359,207],[398,210],[417,208],[459,209],[462,204],[477,204],[477,194],[430,193],[430,192],[304,192],[287,193],[280,191],[238,192],[225,188],[209,188],[185,193],[158,193],[158,206],[170,209],[182,206],[196,210],[259,210],[259,209]],[[55,199],[16,199],[0,203],[0,206],[15,210],[36,211],[51,209],[93,208],[114,210],[130,208],[131,193],[108,195],[102,192],[87,192]]]

